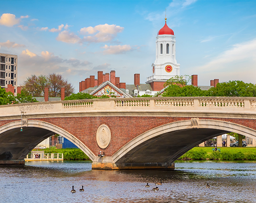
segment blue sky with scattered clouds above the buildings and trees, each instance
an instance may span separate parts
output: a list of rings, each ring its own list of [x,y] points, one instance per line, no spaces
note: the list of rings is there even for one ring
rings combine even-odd
[[[1,0],[0,52],[18,55],[19,85],[57,73],[78,92],[98,70],[144,83],[165,13],[181,75],[256,83],[255,0]]]

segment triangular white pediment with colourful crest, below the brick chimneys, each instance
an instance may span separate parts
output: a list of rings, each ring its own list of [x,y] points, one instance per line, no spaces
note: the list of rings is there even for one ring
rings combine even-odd
[[[126,94],[125,92],[120,90],[117,86],[113,85],[110,81],[103,82],[90,94],[97,97],[106,95],[106,96],[116,96],[118,98],[121,97],[123,94],[126,98],[132,98],[130,94]]]

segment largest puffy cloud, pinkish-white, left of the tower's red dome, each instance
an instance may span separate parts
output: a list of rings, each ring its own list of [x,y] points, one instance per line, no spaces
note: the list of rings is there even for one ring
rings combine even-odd
[[[117,25],[96,25],[95,27],[83,27],[80,29],[81,35],[89,35],[85,36],[82,41],[86,42],[106,42],[111,41],[116,37],[119,32],[122,32],[124,27],[120,27]],[[95,35],[93,35],[95,34]]]

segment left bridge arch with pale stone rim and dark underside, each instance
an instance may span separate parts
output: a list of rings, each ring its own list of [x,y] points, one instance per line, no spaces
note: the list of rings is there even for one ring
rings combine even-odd
[[[57,133],[76,144],[91,160],[96,157],[79,139],[56,125],[45,121],[28,120],[28,127],[23,127],[22,132],[20,127],[20,121],[0,127],[0,154],[11,152],[13,160],[23,160],[38,143]]]

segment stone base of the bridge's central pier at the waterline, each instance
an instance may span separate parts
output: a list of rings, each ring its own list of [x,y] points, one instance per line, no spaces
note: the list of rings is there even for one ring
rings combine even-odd
[[[175,169],[174,163],[114,163],[110,156],[96,158],[92,169],[96,170],[121,170],[121,169]]]

